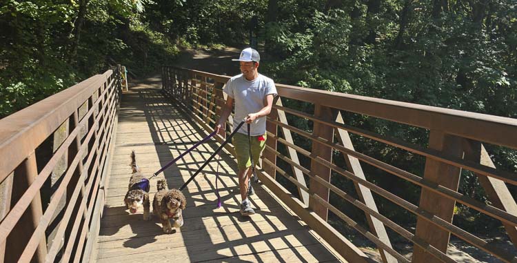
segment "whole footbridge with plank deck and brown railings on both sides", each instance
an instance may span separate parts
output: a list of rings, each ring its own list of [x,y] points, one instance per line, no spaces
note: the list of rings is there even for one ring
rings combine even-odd
[[[462,262],[447,253],[451,234],[494,260],[517,262],[517,205],[509,190],[517,175],[496,169],[484,146],[517,149],[516,119],[278,84],[252,196],[256,215],[238,213],[236,161],[227,144],[185,188],[185,226],[167,235],[155,217],[146,222],[141,211],[125,209],[130,152],[150,176],[199,142],[213,130],[229,77],[163,67],[161,78],[123,91],[119,72],[90,77],[0,120],[0,262]],[[305,109],[283,106],[286,100]],[[349,114],[425,129],[428,146],[349,126]],[[425,167],[418,176],[359,153],[356,138],[419,155]],[[181,186],[222,141],[202,144],[158,178]],[[336,156],[347,165],[338,166]],[[418,205],[381,188],[364,166],[398,178],[401,187],[420,187]],[[458,191],[461,170],[478,177],[489,204]],[[353,182],[356,193],[338,188],[331,175]],[[415,217],[415,228],[383,215],[378,199]],[[365,225],[338,208],[345,202],[364,212]],[[452,224],[457,203],[499,220],[511,248]],[[372,242],[378,257],[347,240],[330,215]],[[412,244],[412,256],[394,237]]]

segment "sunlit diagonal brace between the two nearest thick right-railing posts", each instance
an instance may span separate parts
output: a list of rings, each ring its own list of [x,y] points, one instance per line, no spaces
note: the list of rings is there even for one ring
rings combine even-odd
[[[338,112],[338,116],[336,117],[336,121],[341,124],[345,124],[345,121],[343,121],[343,117],[341,116],[341,112]],[[354,144],[352,144],[352,139],[350,139],[350,136],[348,135],[348,132],[343,129],[336,128],[336,132],[338,134],[338,140],[345,146],[345,148],[348,148],[350,150],[354,149]],[[343,152],[341,152],[343,153]],[[366,179],[365,174],[363,173],[363,168],[361,168],[361,163],[359,163],[359,159],[356,157],[347,155],[347,153],[343,153],[343,157],[345,159],[345,162],[347,163],[347,167],[349,168],[349,171],[356,175],[357,177],[361,179]],[[368,208],[372,209],[375,212],[378,212],[377,205],[375,204],[374,196],[372,195],[372,191],[369,190],[369,188],[358,184],[354,182],[354,186],[356,188],[356,193],[359,196],[359,199],[361,199],[361,202],[366,204]],[[384,224],[379,221],[376,217],[372,215],[366,214],[366,220],[369,225],[369,230],[376,235],[379,240],[381,240],[386,246],[389,248],[392,248],[391,242],[389,242],[389,237],[386,233],[386,228],[384,227]],[[389,262],[389,263],[395,263],[397,262],[396,258],[386,251],[383,251],[382,249],[378,248],[379,253],[381,254],[381,258],[383,259],[383,262]]]

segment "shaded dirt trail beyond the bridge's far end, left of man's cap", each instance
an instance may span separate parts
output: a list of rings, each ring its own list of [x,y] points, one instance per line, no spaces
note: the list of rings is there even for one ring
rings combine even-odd
[[[241,52],[238,48],[225,48],[223,50],[185,50],[174,66],[201,70],[219,75],[233,76],[239,74],[239,63],[232,59],[239,57]]]

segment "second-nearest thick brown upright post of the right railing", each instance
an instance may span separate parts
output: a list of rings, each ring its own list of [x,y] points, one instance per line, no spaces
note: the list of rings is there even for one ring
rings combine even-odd
[[[334,121],[335,119],[332,114],[332,109],[321,106],[320,104],[315,105],[314,116],[329,122]],[[314,122],[314,132],[312,134],[332,142],[334,139],[334,128],[319,122]],[[326,146],[325,144],[320,144],[318,142],[312,142],[312,154],[332,162],[332,148],[330,146]],[[319,164],[314,161],[314,159],[311,160],[311,171],[315,176],[321,177],[325,181],[330,182],[330,168],[323,166],[323,164]],[[314,179],[310,179],[309,185],[311,193],[315,193],[326,202],[329,201],[330,191],[328,188]],[[313,197],[310,197],[309,206],[314,212],[316,212],[316,214],[325,220],[325,222],[327,221],[328,209],[325,206],[319,204]]]

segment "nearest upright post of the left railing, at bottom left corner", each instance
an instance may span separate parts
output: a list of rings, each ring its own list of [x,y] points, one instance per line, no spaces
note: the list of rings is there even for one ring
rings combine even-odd
[[[32,152],[27,159],[25,159],[25,161],[23,161],[14,170],[11,208],[14,207],[21,195],[23,195],[32,182],[34,182],[37,175],[36,154]],[[18,261],[21,253],[29,242],[30,237],[32,237],[32,233],[34,233],[34,230],[37,228],[42,215],[43,208],[41,207],[41,197],[40,194],[37,193],[37,195],[34,196],[34,199],[32,199],[30,206],[27,208],[25,213],[23,213],[7,238],[6,244],[9,244],[10,249],[9,253],[6,253],[5,262]],[[39,241],[38,249],[32,257],[32,262],[45,262],[46,255],[47,243],[45,237],[42,237]]]

